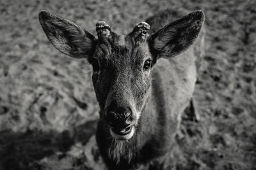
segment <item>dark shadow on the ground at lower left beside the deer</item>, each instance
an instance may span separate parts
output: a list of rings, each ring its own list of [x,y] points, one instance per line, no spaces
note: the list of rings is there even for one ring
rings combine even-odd
[[[56,155],[56,160],[67,157],[71,146],[81,143],[84,146],[95,134],[97,121],[86,122],[73,131],[40,130],[22,132],[0,132],[0,160],[3,169],[42,169],[43,165],[36,163],[45,157]],[[8,143],[6,143],[8,141]],[[56,154],[57,153],[57,154]],[[72,162],[79,164],[79,159]],[[76,165],[77,164],[77,165]]]

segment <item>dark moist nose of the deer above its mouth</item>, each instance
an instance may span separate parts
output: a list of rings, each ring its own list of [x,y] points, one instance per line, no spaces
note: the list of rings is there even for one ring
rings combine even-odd
[[[124,113],[116,113],[115,111],[108,111],[106,114],[108,124],[115,129],[124,129],[132,123],[132,113],[126,111]]]

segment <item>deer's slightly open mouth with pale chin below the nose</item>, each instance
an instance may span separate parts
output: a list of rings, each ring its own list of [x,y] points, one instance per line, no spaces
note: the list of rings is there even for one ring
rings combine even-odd
[[[124,129],[109,129],[111,136],[119,140],[131,139],[134,134],[134,126],[129,126]]]

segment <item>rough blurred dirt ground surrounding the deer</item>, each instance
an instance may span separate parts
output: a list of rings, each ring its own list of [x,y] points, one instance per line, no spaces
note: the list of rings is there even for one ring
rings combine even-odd
[[[38,22],[49,10],[95,34],[118,33],[167,8],[204,10],[205,57],[182,119],[173,169],[256,169],[256,1],[0,1],[0,169],[104,169],[99,107],[86,59],[58,52]]]

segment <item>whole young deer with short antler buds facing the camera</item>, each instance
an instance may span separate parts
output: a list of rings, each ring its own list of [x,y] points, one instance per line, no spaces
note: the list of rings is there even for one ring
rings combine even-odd
[[[204,12],[166,10],[125,35],[99,21],[97,37],[50,11],[40,11],[38,18],[56,49],[92,64],[100,108],[96,141],[106,167],[172,169],[182,114],[188,107],[195,111]]]

